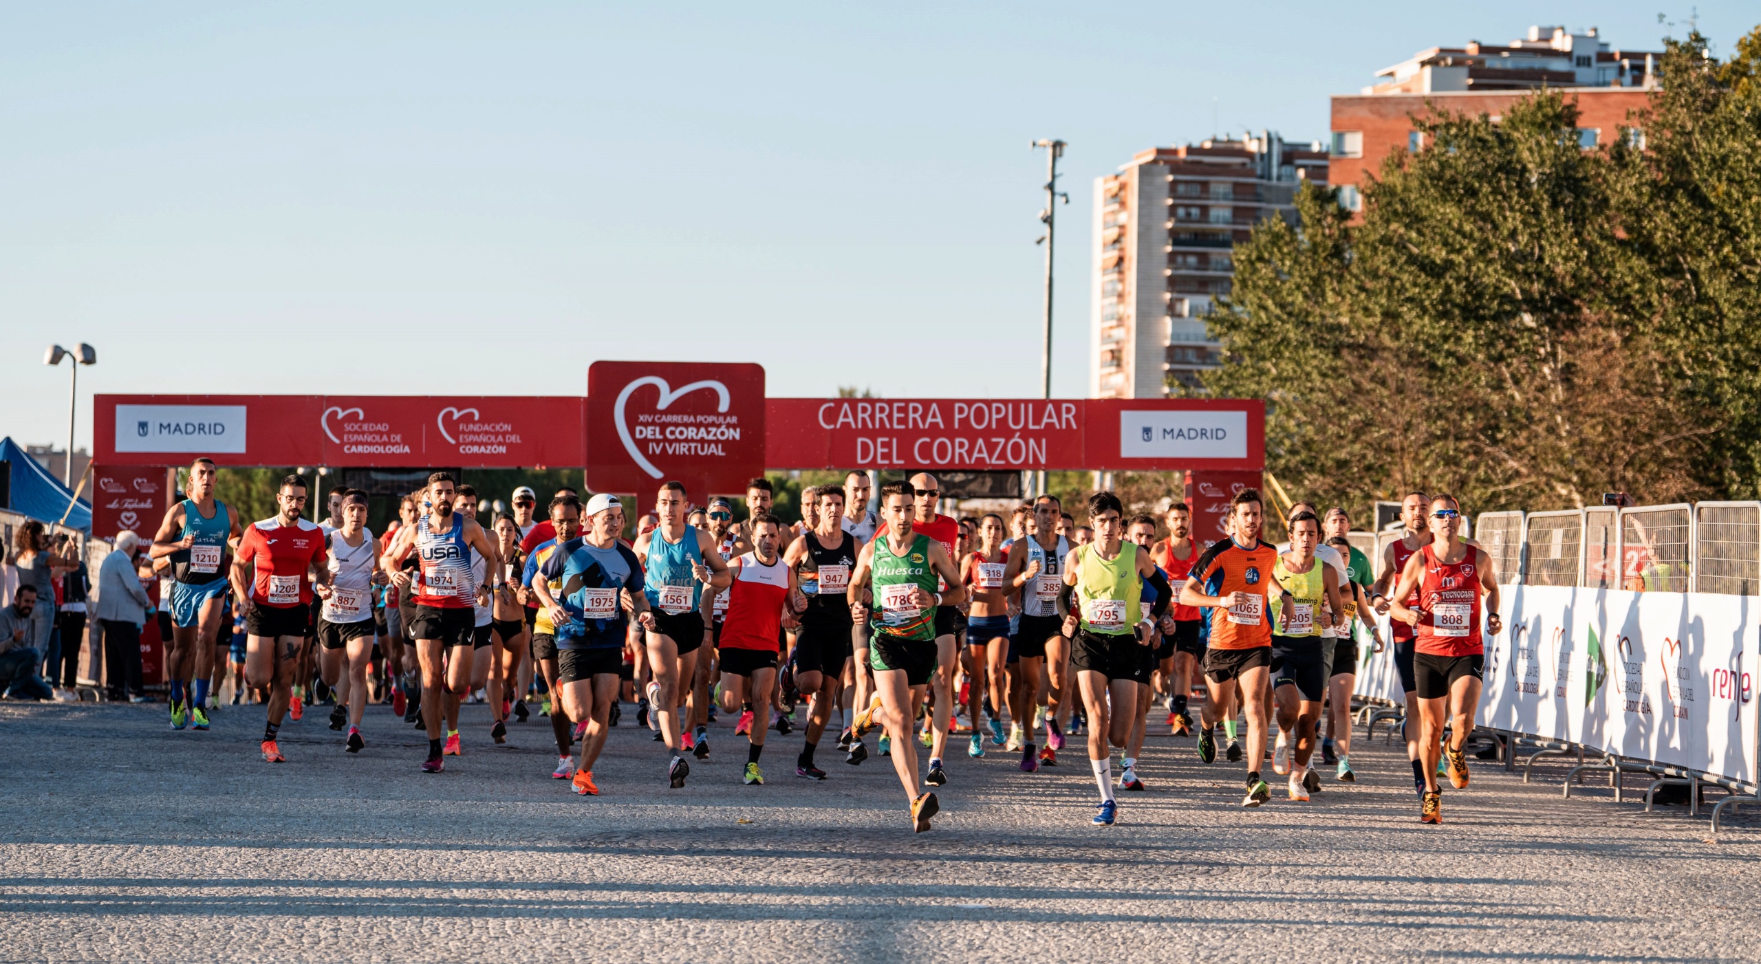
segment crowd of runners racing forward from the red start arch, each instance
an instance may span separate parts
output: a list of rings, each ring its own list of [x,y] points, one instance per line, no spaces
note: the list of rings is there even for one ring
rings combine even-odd
[[[317,522],[308,493],[289,475],[276,515],[245,522],[215,498],[215,464],[197,459],[150,547],[173,581],[171,727],[210,727],[227,672],[220,628],[238,617],[232,702],[262,702],[271,763],[317,686],[333,695],[347,753],[366,749],[366,707],[389,704],[426,732],[431,774],[463,753],[461,702],[483,700],[495,744],[509,719],[546,716],[549,776],[597,795],[608,730],[634,704],[671,788],[727,739],[711,730],[718,716],[745,742],[747,785],[764,783],[771,734],[812,781],[828,779],[828,730],[849,765],[872,756],[873,735],[921,832],[963,735],[969,756],[1018,753],[1028,774],[1087,751],[1092,822],[1106,827],[1116,790],[1145,790],[1138,760],[1159,707],[1199,760],[1222,748],[1242,765],[1242,806],[1259,807],[1273,797],[1266,769],[1291,800],[1323,788],[1321,767],[1356,781],[1358,647],[1382,651],[1375,616],[1389,614],[1419,816],[1437,823],[1439,779],[1469,783],[1483,632],[1500,632],[1490,558],[1460,537],[1446,494],[1404,500],[1405,531],[1372,577],[1342,508],[1294,503],[1289,544],[1271,545],[1254,489],[1233,496],[1227,538],[1210,545],[1194,542],[1183,501],[1159,528],[1113,493],[1074,512],[1043,494],[1009,517],[954,519],[928,473],[882,486],[879,514],[868,473],[810,487],[798,524],[773,514],[764,478],[738,521],[729,500],[697,505],[666,482],[632,542],[609,494],[562,489],[541,505],[519,487],[484,528],[477,493],[437,471],[375,537],[365,493],[333,489]],[[1081,746],[1067,749],[1072,739]]]

